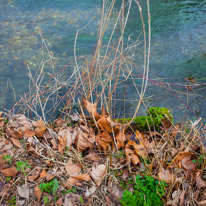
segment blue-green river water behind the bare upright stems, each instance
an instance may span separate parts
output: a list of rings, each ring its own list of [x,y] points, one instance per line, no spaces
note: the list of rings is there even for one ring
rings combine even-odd
[[[77,55],[92,55],[101,0],[0,0],[0,108],[12,105],[28,91],[27,68],[41,61],[43,37],[58,71],[73,57],[75,34],[81,32]],[[146,11],[142,1],[143,12]],[[119,5],[116,5],[118,10]],[[206,0],[151,0],[151,58],[145,104],[171,109],[175,119],[206,117]],[[145,14],[144,14],[145,15]],[[126,38],[140,34],[137,8],[132,7]],[[130,43],[130,42],[128,42]],[[142,64],[142,48],[135,63]],[[47,69],[47,68],[46,68]],[[49,71],[48,67],[48,72]],[[194,80],[189,81],[188,78]],[[126,116],[138,97],[128,90]],[[119,93],[121,95],[121,92]],[[121,116],[122,105],[116,107]],[[196,115],[194,114],[196,113]],[[144,110],[140,111],[144,114]]]

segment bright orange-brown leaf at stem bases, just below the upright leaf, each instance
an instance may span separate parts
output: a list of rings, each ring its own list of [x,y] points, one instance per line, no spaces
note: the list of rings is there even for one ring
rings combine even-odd
[[[97,121],[97,125],[103,130],[109,133],[118,132],[119,124],[112,122],[109,116],[101,116],[101,118]]]

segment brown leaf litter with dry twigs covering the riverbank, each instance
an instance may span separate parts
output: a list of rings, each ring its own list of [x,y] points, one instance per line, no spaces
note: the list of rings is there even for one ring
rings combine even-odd
[[[81,114],[46,123],[0,113],[1,205],[43,205],[46,199],[51,205],[120,205],[138,174],[167,183],[165,205],[206,204],[200,127],[131,131],[104,108],[99,114],[97,103],[84,99],[83,105],[90,115],[86,122]]]

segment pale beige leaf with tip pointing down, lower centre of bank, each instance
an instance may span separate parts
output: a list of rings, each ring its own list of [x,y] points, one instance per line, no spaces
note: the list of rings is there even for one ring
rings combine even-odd
[[[99,187],[103,182],[105,176],[107,175],[107,166],[100,164],[98,166],[93,166],[91,171],[91,177],[93,178],[96,185]]]

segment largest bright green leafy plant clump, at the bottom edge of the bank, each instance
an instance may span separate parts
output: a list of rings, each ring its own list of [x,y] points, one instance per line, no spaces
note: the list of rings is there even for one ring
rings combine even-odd
[[[123,206],[160,206],[165,196],[165,182],[160,182],[153,177],[136,176],[134,192],[125,190],[120,202]]]

